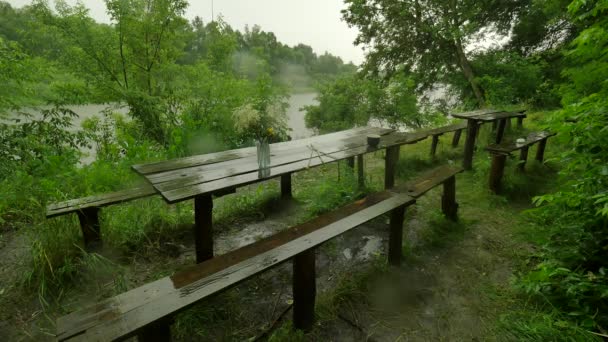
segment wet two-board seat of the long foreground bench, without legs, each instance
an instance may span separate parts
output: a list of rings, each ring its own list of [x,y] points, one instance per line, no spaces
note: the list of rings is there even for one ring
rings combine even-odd
[[[177,313],[202,298],[314,248],[395,208],[415,203],[406,194],[381,192],[292,227],[172,277],[73,312],[57,320],[60,341],[113,341]]]

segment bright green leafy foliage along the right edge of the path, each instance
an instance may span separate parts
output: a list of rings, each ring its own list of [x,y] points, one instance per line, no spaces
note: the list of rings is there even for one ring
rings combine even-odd
[[[564,109],[550,125],[569,149],[560,190],[535,199],[553,236],[522,286],[601,331],[608,325],[608,2],[575,0],[568,10],[583,29],[565,52]]]

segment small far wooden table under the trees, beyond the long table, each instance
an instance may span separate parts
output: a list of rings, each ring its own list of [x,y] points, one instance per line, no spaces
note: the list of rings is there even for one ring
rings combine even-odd
[[[473,168],[473,153],[479,125],[481,123],[498,121],[496,143],[500,144],[504,136],[507,120],[517,118],[517,125],[521,127],[526,114],[525,110],[507,112],[498,109],[482,109],[464,113],[456,113],[452,114],[452,116],[467,120],[467,138],[464,145],[464,161],[462,166],[465,170],[471,170]]]

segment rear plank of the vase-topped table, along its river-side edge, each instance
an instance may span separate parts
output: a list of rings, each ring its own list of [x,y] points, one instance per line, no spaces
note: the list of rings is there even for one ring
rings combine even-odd
[[[331,140],[340,140],[348,137],[353,137],[357,135],[368,134],[368,132],[373,132],[377,130],[375,127],[357,127],[346,131],[340,131],[330,134],[319,135],[315,137],[310,137],[306,139],[299,140],[291,140],[285,141],[281,143],[272,144],[275,149],[289,149],[295,146],[300,145],[308,145],[314,143],[322,143]],[[156,162],[156,163],[148,163],[148,164],[140,164],[133,165],[132,168],[136,172],[142,175],[148,175],[152,173],[158,172],[166,172],[171,170],[177,170],[187,167],[194,167],[200,165],[214,164],[219,162],[224,162],[228,160],[234,160],[239,158],[251,157],[255,156],[256,148],[255,147],[246,147],[237,150],[229,150],[215,153],[208,153],[203,155],[196,155],[191,157],[173,159],[168,161]]]

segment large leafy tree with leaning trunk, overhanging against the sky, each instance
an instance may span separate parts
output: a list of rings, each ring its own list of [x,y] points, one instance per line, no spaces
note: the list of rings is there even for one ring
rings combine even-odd
[[[400,68],[416,72],[422,89],[442,73],[460,70],[479,106],[483,89],[467,56],[482,32],[505,33],[524,0],[346,0],[342,14],[360,33],[356,44],[370,52],[367,67],[389,76]]]

